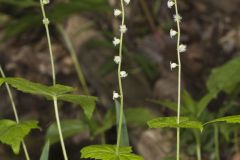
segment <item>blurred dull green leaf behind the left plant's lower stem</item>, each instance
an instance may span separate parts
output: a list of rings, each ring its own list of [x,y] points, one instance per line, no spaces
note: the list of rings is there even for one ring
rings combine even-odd
[[[88,126],[81,120],[61,120],[63,138],[69,138],[88,129]],[[47,130],[46,139],[51,144],[59,142],[57,124],[53,123]]]

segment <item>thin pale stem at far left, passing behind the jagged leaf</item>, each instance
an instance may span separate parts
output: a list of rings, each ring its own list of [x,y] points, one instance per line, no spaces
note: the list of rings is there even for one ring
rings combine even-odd
[[[1,76],[3,78],[6,78],[6,76],[5,76],[1,66],[0,66],[0,73],[1,73]],[[12,105],[12,109],[13,109],[13,113],[14,113],[14,116],[15,116],[15,120],[16,120],[17,123],[19,123],[17,107],[16,107],[16,104],[15,104],[14,99],[13,99],[12,91],[11,91],[11,89],[10,89],[10,87],[9,87],[9,85],[7,83],[5,83],[5,86],[7,88],[8,96],[10,98],[10,102],[11,102],[11,105]],[[26,147],[24,141],[22,141],[22,146],[23,146],[23,151],[24,151],[26,160],[30,160],[29,153],[28,153],[28,150],[27,150],[27,147]]]

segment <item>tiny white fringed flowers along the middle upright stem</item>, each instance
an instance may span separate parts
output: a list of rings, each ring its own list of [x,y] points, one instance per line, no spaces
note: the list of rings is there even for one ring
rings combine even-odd
[[[126,5],[128,5],[128,4],[130,3],[130,0],[124,0],[124,3],[125,3]],[[121,16],[121,15],[124,16],[124,13],[123,13],[123,12],[124,12],[124,11],[122,11],[122,10],[120,10],[120,9],[114,9],[113,15],[114,15],[115,17]],[[121,24],[120,27],[119,27],[119,31],[120,31],[121,35],[124,34],[124,33],[126,33],[126,32],[127,32],[127,26],[126,26],[125,24]],[[121,36],[121,37],[122,37],[122,36]],[[114,45],[114,46],[118,46],[118,45],[120,45],[120,43],[122,43],[122,39],[117,38],[117,37],[114,37],[114,38],[113,38],[113,45]],[[120,63],[121,63],[121,61],[122,61],[122,57],[120,57],[120,56],[115,56],[114,59],[113,59],[113,61],[114,61],[116,64],[120,65]],[[120,76],[120,78],[126,78],[126,77],[128,76],[128,73],[127,73],[126,71],[120,71],[119,76]],[[116,91],[113,91],[113,100],[118,99],[118,98],[120,98],[120,97],[121,97],[121,95],[120,95],[119,93],[117,93]]]

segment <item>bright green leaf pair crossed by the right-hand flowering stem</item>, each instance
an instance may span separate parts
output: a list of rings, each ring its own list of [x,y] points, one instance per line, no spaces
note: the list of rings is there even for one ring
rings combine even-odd
[[[180,123],[177,123],[177,117],[160,117],[148,121],[150,128],[193,128],[203,130],[202,123],[190,120],[189,117],[181,117]]]

